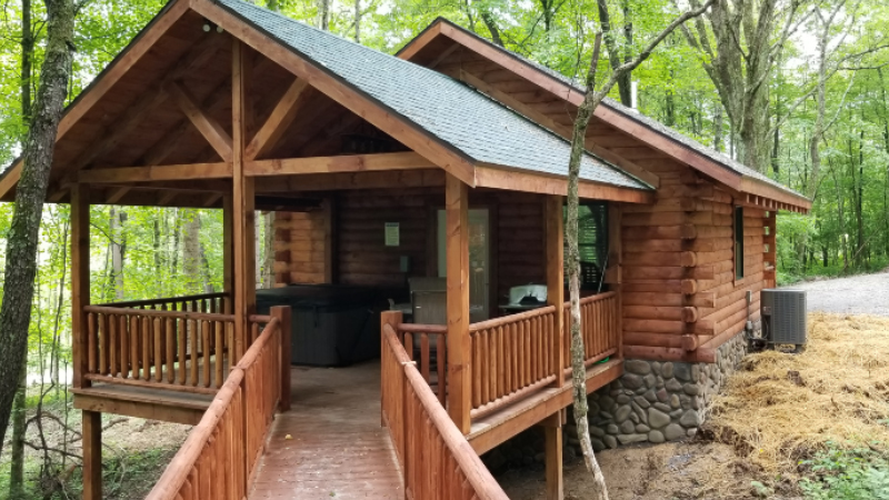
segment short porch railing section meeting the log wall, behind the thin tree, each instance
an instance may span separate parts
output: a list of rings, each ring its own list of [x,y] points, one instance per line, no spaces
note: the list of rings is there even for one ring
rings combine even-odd
[[[571,376],[571,302],[562,308],[565,314],[563,376]],[[589,367],[618,353],[621,342],[618,297],[605,292],[580,299],[581,334],[585,362]]]

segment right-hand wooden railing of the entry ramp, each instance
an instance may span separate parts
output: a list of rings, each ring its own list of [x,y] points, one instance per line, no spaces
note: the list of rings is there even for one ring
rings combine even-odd
[[[406,497],[506,500],[508,497],[436,399],[386,318],[381,362],[382,418],[396,447]]]

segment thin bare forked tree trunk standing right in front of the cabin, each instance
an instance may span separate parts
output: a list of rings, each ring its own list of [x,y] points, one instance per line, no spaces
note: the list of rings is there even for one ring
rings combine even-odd
[[[578,108],[577,118],[575,119],[573,134],[571,137],[571,157],[568,163],[568,221],[566,223],[566,237],[568,239],[568,282],[569,296],[571,299],[571,386],[573,393],[575,424],[577,426],[578,438],[580,438],[580,448],[583,452],[583,461],[587,464],[587,469],[592,473],[593,484],[596,486],[595,494],[599,499],[608,499],[608,489],[606,488],[602,471],[592,452],[592,443],[590,441],[589,421],[587,420],[587,369],[583,364],[583,338],[580,334],[580,251],[578,248],[578,207],[580,200],[578,199],[577,188],[578,178],[580,176],[580,159],[585,153],[587,126],[596,108],[599,107],[602,99],[608,96],[625,74],[631,72],[641,64],[642,61],[648,59],[655,48],[657,48],[673,30],[689,19],[702,14],[716,0],[707,0],[703,4],[676,18],[663,31],[649,41],[636,58],[613,70],[608,80],[598,88],[596,86],[596,69],[599,66],[599,50],[602,41],[602,33],[597,33],[590,69],[587,72],[587,93],[583,96],[583,102]]]

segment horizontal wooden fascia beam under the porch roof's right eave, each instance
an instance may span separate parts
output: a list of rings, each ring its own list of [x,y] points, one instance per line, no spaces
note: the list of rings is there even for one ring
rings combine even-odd
[[[510,170],[501,166],[489,164],[478,164],[476,167],[476,186],[479,188],[496,188],[540,194],[566,196],[568,193],[568,180],[566,178],[528,172],[526,170]],[[580,198],[595,200],[626,201],[629,203],[655,202],[655,191],[619,188],[585,180],[581,180],[578,184],[578,194]]]

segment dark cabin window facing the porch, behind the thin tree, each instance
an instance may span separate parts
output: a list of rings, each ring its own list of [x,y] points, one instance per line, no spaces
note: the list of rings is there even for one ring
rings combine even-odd
[[[568,209],[565,210],[568,218]],[[578,250],[580,251],[580,289],[605,290],[605,268],[608,257],[608,203],[581,202],[578,208]],[[568,240],[565,241],[565,280],[568,283]]]

